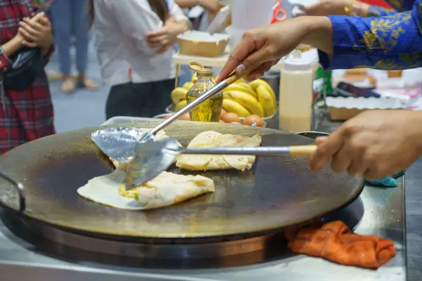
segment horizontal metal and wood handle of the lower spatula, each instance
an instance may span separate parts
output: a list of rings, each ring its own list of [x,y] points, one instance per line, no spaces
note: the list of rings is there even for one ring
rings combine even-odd
[[[193,155],[257,155],[257,156],[282,156],[312,157],[316,145],[296,145],[261,148],[186,148],[182,154]]]

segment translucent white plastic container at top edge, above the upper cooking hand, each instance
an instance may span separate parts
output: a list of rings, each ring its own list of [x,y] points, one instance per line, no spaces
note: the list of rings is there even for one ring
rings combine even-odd
[[[276,3],[276,0],[231,0],[231,25],[240,30],[269,25]]]

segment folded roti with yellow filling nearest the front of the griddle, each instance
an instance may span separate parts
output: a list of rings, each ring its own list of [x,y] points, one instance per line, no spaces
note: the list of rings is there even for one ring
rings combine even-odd
[[[116,169],[112,174],[98,176],[77,190],[87,200],[109,207],[145,210],[166,207],[215,192],[214,181],[205,176],[184,176],[162,172],[145,185],[124,190],[126,171]]]

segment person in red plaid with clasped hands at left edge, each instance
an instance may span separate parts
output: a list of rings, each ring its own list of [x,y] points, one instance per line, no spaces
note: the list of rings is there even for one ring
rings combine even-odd
[[[23,47],[40,47],[44,65],[48,63],[54,49],[51,22],[44,13],[28,18],[35,8],[30,0],[0,0],[0,75],[11,68],[11,55]],[[0,154],[55,133],[53,104],[44,71],[23,91],[0,86]]]

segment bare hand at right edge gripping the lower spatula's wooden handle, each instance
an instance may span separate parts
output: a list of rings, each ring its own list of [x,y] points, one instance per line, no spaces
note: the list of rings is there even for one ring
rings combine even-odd
[[[375,181],[409,168],[422,154],[422,112],[371,110],[345,122],[318,146],[309,168],[320,171],[331,160],[336,173]]]

